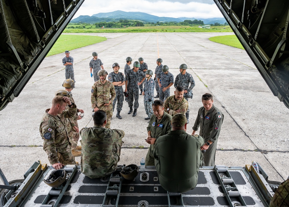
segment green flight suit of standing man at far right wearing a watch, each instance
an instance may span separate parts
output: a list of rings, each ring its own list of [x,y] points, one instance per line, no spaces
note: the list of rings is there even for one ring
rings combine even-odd
[[[214,105],[205,115],[205,108],[201,107],[198,112],[197,119],[193,126],[193,130],[197,131],[200,126],[200,136],[205,139],[205,143],[210,140],[213,142],[206,150],[203,156],[202,166],[214,166],[218,137],[221,131],[224,115]]]

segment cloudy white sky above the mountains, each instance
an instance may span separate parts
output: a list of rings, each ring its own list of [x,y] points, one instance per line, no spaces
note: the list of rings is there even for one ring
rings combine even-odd
[[[223,17],[213,0],[85,0],[73,18],[116,10],[174,18]]]

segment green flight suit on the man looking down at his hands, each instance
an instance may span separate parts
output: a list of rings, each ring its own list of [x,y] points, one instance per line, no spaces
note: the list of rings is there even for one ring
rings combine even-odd
[[[168,113],[164,112],[162,119],[158,121],[155,115],[151,115],[151,119],[149,120],[149,126],[147,126],[147,131],[151,131],[152,138],[158,138],[159,136],[167,134],[172,129],[171,125],[172,116]],[[145,158],[146,166],[154,166],[155,158],[153,157],[153,149],[155,144],[149,146],[149,151],[147,152],[147,156]]]

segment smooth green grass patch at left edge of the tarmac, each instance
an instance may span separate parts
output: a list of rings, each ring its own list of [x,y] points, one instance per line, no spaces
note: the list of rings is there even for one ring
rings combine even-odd
[[[48,56],[64,53],[65,50],[74,50],[87,45],[92,45],[107,40],[105,37],[91,36],[91,35],[60,35],[55,42]]]

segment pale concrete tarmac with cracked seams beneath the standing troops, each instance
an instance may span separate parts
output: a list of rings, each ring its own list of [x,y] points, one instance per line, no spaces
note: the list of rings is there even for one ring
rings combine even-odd
[[[85,33],[108,39],[70,51],[76,81],[73,98],[77,107],[84,110],[84,117],[78,121],[79,128],[93,126],[90,91],[94,81],[89,70],[92,52],[98,53],[108,73],[112,72],[114,62],[120,64],[123,72],[127,56],[133,61],[143,57],[153,71],[156,59],[160,57],[174,77],[179,73],[179,65],[186,63],[190,68],[187,72],[196,83],[194,96],[189,99],[187,132],[192,133],[197,111],[202,107],[202,94],[212,93],[214,105],[224,114],[216,164],[243,167],[254,160],[262,166],[269,180],[286,180],[289,175],[286,170],[289,169],[289,110],[273,95],[244,50],[208,39],[231,34]],[[23,178],[37,160],[49,164],[42,149],[39,124],[45,110],[51,107],[55,91],[63,89],[64,56],[63,53],[45,58],[22,93],[0,111],[0,168],[8,181]],[[171,87],[171,95],[174,90]],[[149,147],[144,141],[148,121],[144,120],[147,115],[143,96],[139,97],[136,117],[128,115],[127,111],[129,107],[124,102],[123,119],[116,118],[114,112],[111,121],[112,129],[125,131],[119,164],[140,165],[140,159],[145,157]],[[76,160],[80,161],[80,157]]]

